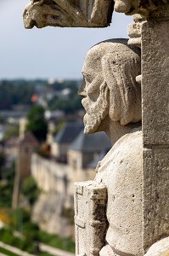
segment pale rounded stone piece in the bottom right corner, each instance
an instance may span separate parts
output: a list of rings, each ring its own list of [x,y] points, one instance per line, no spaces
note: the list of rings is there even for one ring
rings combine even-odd
[[[155,242],[144,256],[168,256],[169,255],[169,237]]]

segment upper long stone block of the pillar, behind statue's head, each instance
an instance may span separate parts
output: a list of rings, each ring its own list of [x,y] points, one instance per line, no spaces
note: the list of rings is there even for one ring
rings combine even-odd
[[[169,21],[142,26],[144,145],[169,145]]]

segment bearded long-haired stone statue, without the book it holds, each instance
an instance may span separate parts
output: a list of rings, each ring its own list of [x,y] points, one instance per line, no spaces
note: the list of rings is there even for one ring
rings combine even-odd
[[[142,133],[140,58],[127,40],[108,40],[90,49],[82,68],[80,95],[86,133],[105,131],[114,146],[99,162],[95,184],[107,188],[109,227],[100,256],[141,255]],[[94,254],[95,255],[95,254]]]

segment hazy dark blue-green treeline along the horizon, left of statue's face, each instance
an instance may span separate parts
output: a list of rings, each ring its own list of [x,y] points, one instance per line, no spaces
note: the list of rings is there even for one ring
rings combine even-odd
[[[31,97],[43,97],[50,110],[63,110],[65,113],[75,112],[82,108],[81,97],[77,96],[80,81],[65,80],[0,80],[0,109],[13,109],[17,105],[31,107]],[[68,96],[63,97],[59,92],[70,89]],[[48,94],[51,96],[48,97]]]

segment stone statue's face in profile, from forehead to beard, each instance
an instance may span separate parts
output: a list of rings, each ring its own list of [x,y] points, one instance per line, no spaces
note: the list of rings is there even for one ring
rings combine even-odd
[[[104,90],[107,88],[103,78],[101,61],[93,58],[93,51],[89,51],[82,67],[83,83],[79,95],[84,96],[82,106],[86,110],[83,122],[85,133],[101,131],[101,122],[106,115],[107,99]]]

